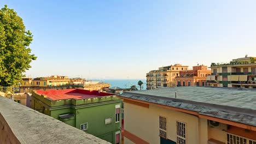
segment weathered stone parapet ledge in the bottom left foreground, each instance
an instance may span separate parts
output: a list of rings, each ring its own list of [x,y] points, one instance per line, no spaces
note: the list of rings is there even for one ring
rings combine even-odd
[[[0,97],[0,111],[0,143],[110,144],[4,97]]]

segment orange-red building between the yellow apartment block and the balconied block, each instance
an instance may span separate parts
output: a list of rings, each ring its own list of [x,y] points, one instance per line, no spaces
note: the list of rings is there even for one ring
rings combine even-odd
[[[206,86],[206,77],[211,75],[211,70],[205,65],[197,65],[193,70],[179,71],[176,77],[176,86]]]

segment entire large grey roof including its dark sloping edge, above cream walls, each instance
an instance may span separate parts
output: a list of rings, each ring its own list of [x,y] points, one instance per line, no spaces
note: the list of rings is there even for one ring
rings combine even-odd
[[[243,88],[174,87],[125,92],[127,97],[256,126],[256,91]],[[177,92],[177,98],[175,98]]]

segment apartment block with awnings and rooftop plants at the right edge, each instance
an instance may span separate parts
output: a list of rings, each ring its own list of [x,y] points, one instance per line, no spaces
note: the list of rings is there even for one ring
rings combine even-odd
[[[212,63],[208,86],[256,88],[256,57],[232,59],[230,63]]]

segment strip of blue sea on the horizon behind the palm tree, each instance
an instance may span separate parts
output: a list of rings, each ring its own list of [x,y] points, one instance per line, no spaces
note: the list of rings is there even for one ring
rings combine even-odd
[[[143,85],[142,90],[146,90],[147,83],[146,79],[92,79],[92,81],[100,81],[110,83],[110,87],[120,87],[120,88],[130,88],[131,86],[136,86],[139,89],[138,81],[141,80]]]

